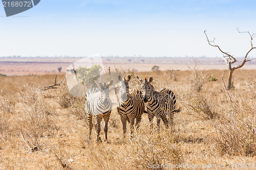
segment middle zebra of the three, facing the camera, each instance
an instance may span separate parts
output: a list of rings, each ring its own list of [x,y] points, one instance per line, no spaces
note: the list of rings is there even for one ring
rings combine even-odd
[[[120,100],[117,107],[117,111],[121,117],[121,121],[123,124],[123,137],[126,133],[126,120],[130,123],[131,127],[131,137],[134,132],[134,122],[136,118],[136,129],[139,128],[139,123],[141,122],[141,116],[145,109],[145,104],[142,100],[142,93],[138,89],[133,89],[131,93],[129,93],[129,81],[131,80],[131,76],[127,77],[127,80],[122,79],[120,75],[118,75],[118,80],[120,81]]]

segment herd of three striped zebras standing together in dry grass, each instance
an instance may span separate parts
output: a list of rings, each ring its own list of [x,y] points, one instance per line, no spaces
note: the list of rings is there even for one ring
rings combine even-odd
[[[131,138],[134,133],[134,124],[136,119],[136,129],[139,128],[141,122],[141,116],[143,113],[148,114],[150,120],[150,128],[153,126],[153,118],[157,118],[157,128],[160,129],[160,121],[163,120],[164,125],[168,128],[168,124],[172,125],[173,116],[175,112],[178,112],[180,108],[176,109],[176,98],[172,90],[163,88],[160,91],[156,91],[151,84],[153,77],[150,79],[141,80],[137,76],[137,80],[141,83],[141,89],[133,89],[130,92],[129,81],[131,76],[127,76],[127,79],[118,75],[120,81],[120,99],[117,107],[117,111],[120,115],[123,125],[123,136],[126,133],[126,122],[130,124]],[[102,118],[105,122],[104,133],[105,141],[108,141],[108,122],[112,111],[112,101],[110,99],[110,88],[113,80],[109,83],[98,83],[99,88],[92,88],[86,93],[86,112],[88,114],[89,123],[89,139],[91,139],[93,121],[95,116],[96,124],[95,129],[97,132],[97,141],[101,142],[100,138],[100,122]],[[168,123],[168,119],[171,123]]]

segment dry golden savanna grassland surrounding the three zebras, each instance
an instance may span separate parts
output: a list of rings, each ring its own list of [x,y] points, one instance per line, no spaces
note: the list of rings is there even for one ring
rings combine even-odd
[[[140,87],[137,75],[153,76],[152,84],[158,90],[172,89],[181,110],[172,128],[165,129],[161,122],[160,134],[156,120],[150,131],[147,115],[143,114],[134,138],[130,139],[127,127],[123,141],[115,107],[109,143],[96,142],[95,128],[89,141],[84,98],[70,96],[67,84],[42,90],[54,83],[54,75],[0,76],[0,169],[150,169],[149,163],[200,164],[196,169],[245,163],[241,167],[255,169],[255,70],[234,71],[229,91],[222,82],[223,70],[192,68],[130,74],[131,88]],[[225,83],[227,75],[226,71]],[[58,75],[57,82],[63,78],[65,75]]]

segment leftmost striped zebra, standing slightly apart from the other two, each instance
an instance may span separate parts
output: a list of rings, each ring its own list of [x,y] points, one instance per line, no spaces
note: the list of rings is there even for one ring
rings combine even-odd
[[[105,141],[108,140],[108,122],[110,118],[110,113],[112,110],[112,102],[110,99],[110,89],[109,86],[112,85],[113,80],[109,83],[97,83],[99,88],[91,88],[86,93],[86,111],[88,114],[88,122],[89,122],[89,139],[91,140],[91,134],[93,129],[93,116],[96,117],[95,128],[97,131],[97,141],[101,142],[101,138],[99,136],[100,133],[100,122],[103,117],[105,122],[104,133],[105,133]]]

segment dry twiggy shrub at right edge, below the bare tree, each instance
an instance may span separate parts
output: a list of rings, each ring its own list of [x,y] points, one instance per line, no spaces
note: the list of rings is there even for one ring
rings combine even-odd
[[[231,156],[256,155],[256,116],[253,100],[244,100],[242,96],[237,101],[229,101],[228,112],[219,122],[214,123],[215,140],[221,154]]]

